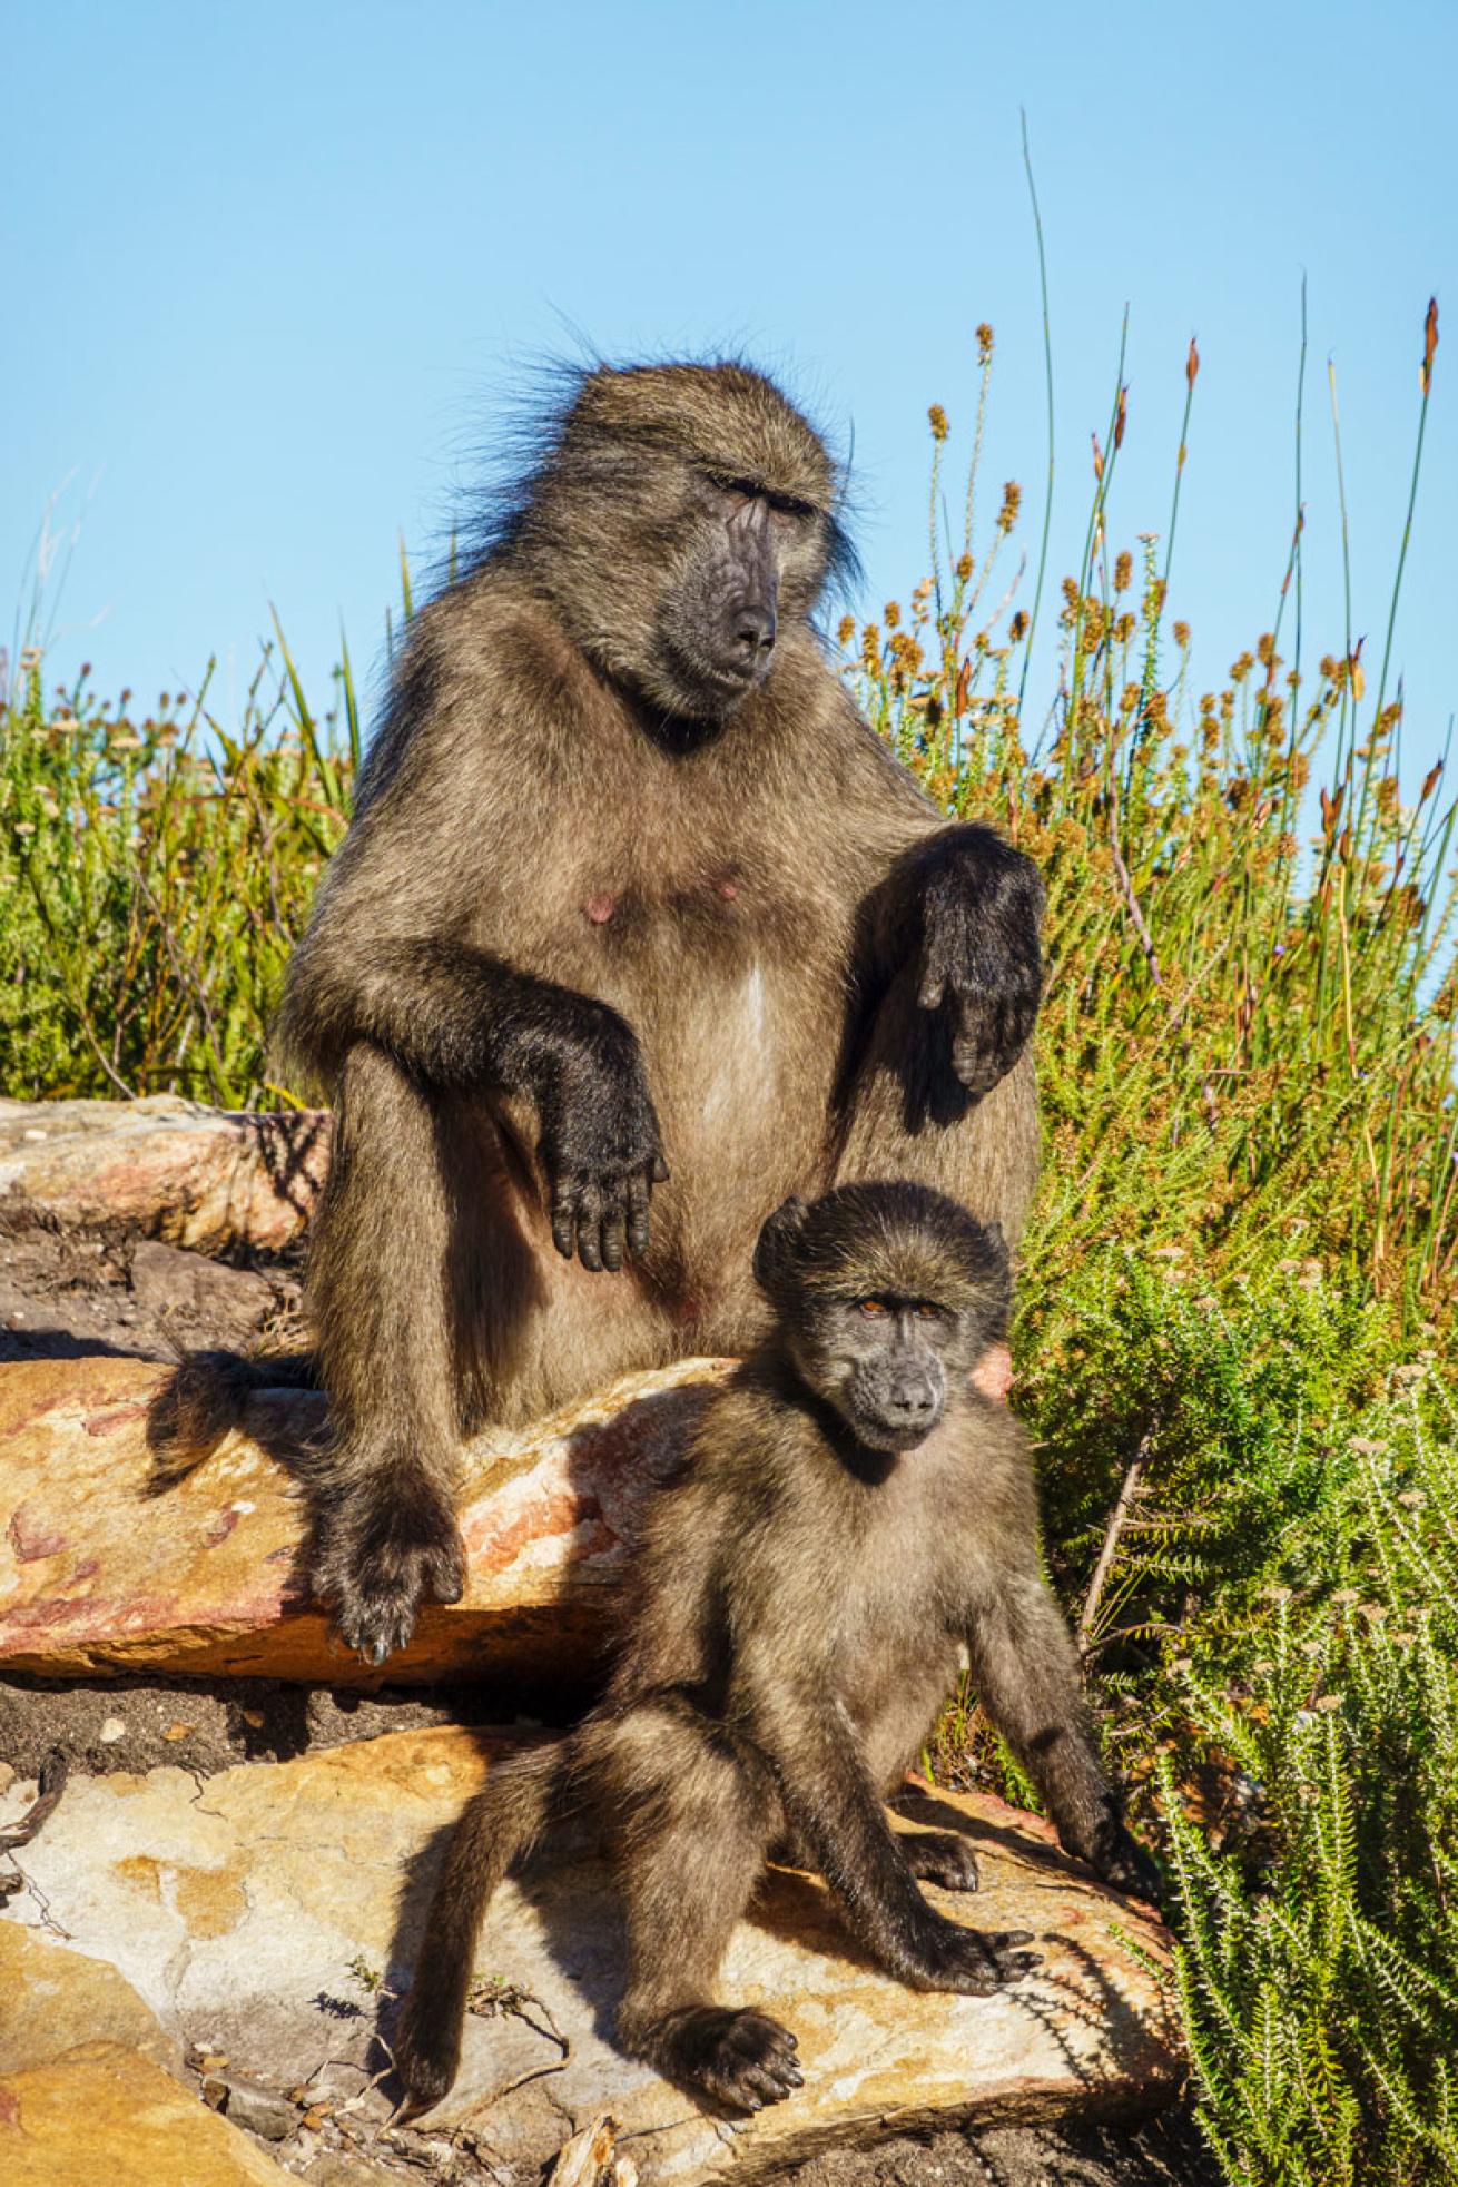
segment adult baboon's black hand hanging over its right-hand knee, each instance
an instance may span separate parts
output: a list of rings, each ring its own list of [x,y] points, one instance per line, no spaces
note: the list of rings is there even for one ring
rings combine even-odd
[[[1040,912],[1038,868],[992,829],[949,829],[931,846],[916,999],[951,1010],[951,1067],[968,1094],[990,1094],[1032,1034]]]

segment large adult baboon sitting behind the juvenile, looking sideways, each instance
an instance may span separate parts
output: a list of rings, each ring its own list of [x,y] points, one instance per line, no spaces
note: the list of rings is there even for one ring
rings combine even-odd
[[[459,1437],[743,1354],[787,1192],[916,1177],[1021,1231],[1040,884],[828,665],[837,492],[761,374],[592,370],[411,623],[280,1021],[337,1113],[313,1577],[376,1662],[461,1590]],[[190,1369],[164,1470],[232,1402]]]

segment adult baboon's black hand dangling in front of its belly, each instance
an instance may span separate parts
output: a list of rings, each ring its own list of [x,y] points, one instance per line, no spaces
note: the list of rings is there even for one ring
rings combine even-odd
[[[584,1268],[621,1268],[649,1244],[654,1185],[669,1179],[643,1050],[616,1010],[592,1008],[540,1096],[551,1238]]]

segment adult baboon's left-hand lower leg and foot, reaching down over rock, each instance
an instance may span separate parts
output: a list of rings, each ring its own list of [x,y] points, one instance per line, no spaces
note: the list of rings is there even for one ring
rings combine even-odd
[[[315,1481],[315,1592],[383,1662],[420,1603],[463,1586],[450,1509],[457,1391],[450,1205],[426,1096],[376,1048],[350,1052],[310,1244],[308,1306],[330,1400]]]

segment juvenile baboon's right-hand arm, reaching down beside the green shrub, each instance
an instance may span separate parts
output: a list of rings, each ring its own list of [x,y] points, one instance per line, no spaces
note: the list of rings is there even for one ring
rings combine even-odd
[[[1036,1566],[1016,1568],[968,1627],[973,1684],[1047,1804],[1067,1852],[1159,1903],[1159,1872],[1124,1826],[1093,1739],[1073,1638]]]

